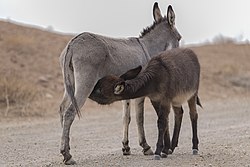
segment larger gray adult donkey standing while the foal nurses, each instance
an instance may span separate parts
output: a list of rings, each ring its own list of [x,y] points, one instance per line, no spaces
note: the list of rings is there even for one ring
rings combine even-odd
[[[109,74],[120,75],[138,65],[145,65],[157,53],[179,46],[180,34],[175,28],[175,14],[169,5],[167,16],[163,17],[154,4],[155,22],[144,29],[139,38],[115,39],[92,33],[81,33],[71,39],[60,56],[65,92],[60,105],[60,118],[63,127],[61,154],[65,164],[74,164],[70,154],[69,134],[75,115],[80,117],[79,109],[86,99],[95,99],[91,92],[97,81]],[[130,122],[130,101],[124,103],[123,116],[123,154],[130,154],[128,145],[128,126]],[[146,142],[143,127],[144,98],[137,99],[136,120],[139,143],[145,155],[152,154]]]

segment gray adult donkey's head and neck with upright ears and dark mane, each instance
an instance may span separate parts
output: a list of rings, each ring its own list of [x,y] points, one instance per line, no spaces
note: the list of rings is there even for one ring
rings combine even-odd
[[[181,35],[175,27],[175,13],[171,5],[168,6],[167,15],[162,16],[158,3],[155,2],[153,16],[153,25],[144,29],[140,35],[150,57],[161,51],[179,47],[181,39]]]

